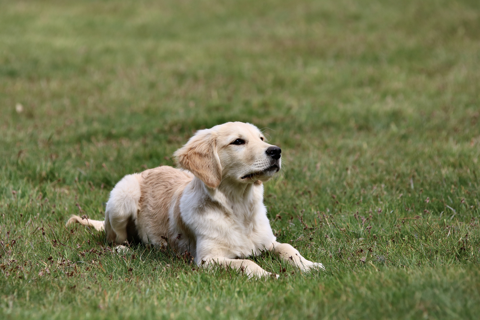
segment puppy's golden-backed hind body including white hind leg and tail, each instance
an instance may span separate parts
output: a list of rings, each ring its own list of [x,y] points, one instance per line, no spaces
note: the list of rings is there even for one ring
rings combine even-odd
[[[78,222],[105,230],[109,243],[140,238],[145,243],[166,244],[166,238],[180,233],[187,236],[178,200],[192,178],[190,172],[171,166],[127,175],[110,192],[104,221],[72,215],[67,225]]]

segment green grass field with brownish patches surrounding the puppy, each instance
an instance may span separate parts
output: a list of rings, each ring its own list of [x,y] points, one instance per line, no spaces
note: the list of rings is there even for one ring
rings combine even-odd
[[[478,319],[478,0],[0,1],[1,319]],[[115,183],[230,120],[283,151],[278,280],[121,256]]]

